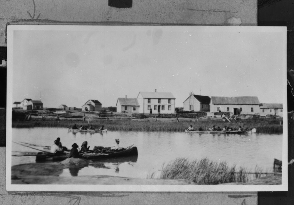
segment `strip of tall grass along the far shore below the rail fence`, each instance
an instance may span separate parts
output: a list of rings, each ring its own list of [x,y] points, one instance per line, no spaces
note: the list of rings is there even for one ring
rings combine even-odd
[[[256,128],[257,133],[283,133],[283,125],[280,119],[246,119],[232,122],[140,122],[140,121],[99,121],[91,120],[89,124],[94,128],[100,128],[104,125],[109,131],[141,131],[141,132],[183,132],[189,125],[193,125],[194,129],[202,127],[203,129],[210,128],[213,125],[216,127],[243,127],[249,130]],[[12,121],[12,127],[29,128],[29,127],[64,127],[71,128],[74,124],[88,125],[86,121],[74,120],[29,120]]]

